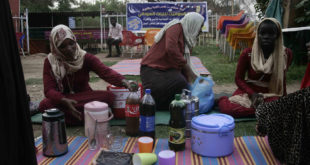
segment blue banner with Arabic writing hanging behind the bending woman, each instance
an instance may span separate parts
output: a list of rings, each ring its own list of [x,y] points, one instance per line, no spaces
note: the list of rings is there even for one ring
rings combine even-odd
[[[203,32],[208,32],[207,2],[127,3],[127,30],[146,31],[162,28],[173,19],[181,19],[189,12],[197,12],[204,19]]]

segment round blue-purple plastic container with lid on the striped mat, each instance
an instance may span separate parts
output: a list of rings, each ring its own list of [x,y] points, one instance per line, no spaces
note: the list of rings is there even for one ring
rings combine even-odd
[[[230,155],[234,143],[234,118],[226,114],[199,115],[192,119],[192,151],[208,157]]]

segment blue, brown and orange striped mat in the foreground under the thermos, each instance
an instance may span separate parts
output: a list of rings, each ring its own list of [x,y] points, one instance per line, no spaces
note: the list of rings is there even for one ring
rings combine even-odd
[[[38,147],[38,164],[90,164],[95,159],[98,150],[88,150],[87,138],[69,137],[69,152],[60,157],[48,158],[42,155],[42,138],[38,138],[35,145]],[[280,164],[272,154],[267,138],[258,136],[236,137],[234,152],[230,156],[210,158],[201,157],[191,152],[190,141],[186,142],[186,149],[176,154],[177,165],[251,165],[251,164]],[[167,139],[157,139],[155,153],[168,149]],[[137,138],[123,139],[123,152],[136,153],[139,151]],[[157,165],[158,163],[156,163]]]

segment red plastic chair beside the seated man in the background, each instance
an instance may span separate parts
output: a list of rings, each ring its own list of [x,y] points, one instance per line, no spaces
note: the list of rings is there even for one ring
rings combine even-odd
[[[133,47],[138,47],[138,46],[144,46],[144,36],[136,36],[134,33],[131,31],[123,30],[123,40],[120,43],[120,46],[125,46],[130,48],[131,56],[136,54],[136,52],[133,52]]]

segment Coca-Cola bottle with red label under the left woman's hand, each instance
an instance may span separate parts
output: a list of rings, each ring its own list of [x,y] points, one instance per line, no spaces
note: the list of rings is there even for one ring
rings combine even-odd
[[[125,117],[126,117],[126,135],[128,136],[138,136],[139,134],[139,103],[140,97],[137,93],[138,87],[136,84],[130,84],[132,91],[126,99],[125,105]]]

